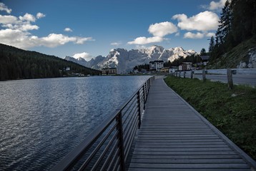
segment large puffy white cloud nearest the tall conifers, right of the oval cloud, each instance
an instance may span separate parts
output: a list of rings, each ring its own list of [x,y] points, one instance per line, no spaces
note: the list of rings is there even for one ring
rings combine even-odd
[[[177,19],[179,28],[188,31],[216,30],[219,24],[219,16],[212,11],[204,11],[190,18],[185,14],[177,14],[172,16],[172,19]]]

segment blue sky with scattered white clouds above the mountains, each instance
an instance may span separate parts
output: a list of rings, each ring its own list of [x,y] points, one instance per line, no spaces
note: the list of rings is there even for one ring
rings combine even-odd
[[[49,55],[107,56],[112,48],[208,50],[225,0],[0,1],[0,43]]]

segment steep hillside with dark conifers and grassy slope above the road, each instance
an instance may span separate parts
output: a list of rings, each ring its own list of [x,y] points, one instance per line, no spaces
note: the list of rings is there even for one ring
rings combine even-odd
[[[215,68],[236,67],[256,51],[256,1],[226,1],[215,37],[210,40],[210,63]],[[246,66],[245,66],[246,67]]]

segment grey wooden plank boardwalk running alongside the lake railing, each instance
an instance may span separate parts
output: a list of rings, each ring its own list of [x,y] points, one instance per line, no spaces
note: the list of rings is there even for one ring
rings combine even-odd
[[[256,170],[256,162],[169,88],[149,90],[129,170]]]

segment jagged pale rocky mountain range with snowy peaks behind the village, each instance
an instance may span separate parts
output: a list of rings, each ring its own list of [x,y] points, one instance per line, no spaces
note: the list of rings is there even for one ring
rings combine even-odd
[[[128,73],[134,66],[149,63],[149,61],[174,61],[177,58],[195,54],[194,50],[184,51],[183,48],[165,49],[162,46],[151,46],[149,48],[132,49],[127,51],[124,48],[112,49],[106,57],[97,56],[91,61],[85,61],[84,58],[72,58],[66,56],[66,60],[79,63],[83,66],[94,69],[117,68],[117,73]]]

